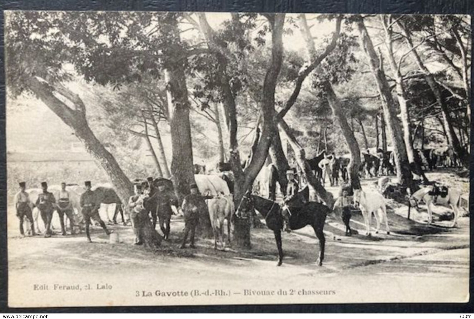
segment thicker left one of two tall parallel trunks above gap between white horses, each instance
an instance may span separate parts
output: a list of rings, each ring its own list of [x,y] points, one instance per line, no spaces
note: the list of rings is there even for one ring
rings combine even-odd
[[[399,183],[403,186],[408,186],[411,191],[414,191],[415,186],[413,184],[413,177],[410,171],[406,146],[402,138],[403,135],[400,125],[397,122],[398,119],[396,115],[395,103],[393,101],[392,92],[385,77],[385,73],[383,72],[382,56],[380,56],[380,58],[377,56],[374,45],[372,44],[372,40],[370,39],[367,29],[365,28],[363,18],[359,16],[356,23],[360,34],[361,46],[367,55],[371,71],[374,74],[374,78],[377,83],[377,89],[381,96],[383,115],[385,117],[385,122],[388,126],[388,131],[392,140],[395,166],[397,168],[397,177]]]

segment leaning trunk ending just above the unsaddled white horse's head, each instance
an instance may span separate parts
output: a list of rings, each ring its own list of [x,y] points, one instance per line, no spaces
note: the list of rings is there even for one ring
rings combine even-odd
[[[341,127],[342,134],[344,135],[344,138],[346,139],[347,147],[349,148],[349,152],[351,153],[351,160],[349,162],[349,166],[347,167],[349,182],[353,189],[361,189],[360,179],[359,179],[359,167],[360,167],[359,144],[357,143],[356,137],[354,136],[354,132],[351,130],[349,124],[347,123],[347,119],[346,119],[346,116],[344,115],[341,101],[336,96],[336,93],[334,93],[334,90],[332,89],[331,84],[329,82],[325,82],[324,89],[326,91],[326,98],[328,100],[329,106],[331,107],[332,114],[337,119],[337,122],[339,123],[339,126]]]

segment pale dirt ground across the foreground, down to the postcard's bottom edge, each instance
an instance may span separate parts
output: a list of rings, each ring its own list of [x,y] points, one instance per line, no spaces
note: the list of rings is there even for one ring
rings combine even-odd
[[[389,221],[390,235],[346,237],[337,216],[329,216],[321,267],[315,264],[319,247],[310,227],[283,234],[281,267],[276,266],[273,233],[266,228],[252,231],[249,251],[216,251],[210,239],[199,240],[197,249],[179,249],[184,224],[174,219],[170,240],[156,252],[133,246],[127,226],[110,226],[122,240],[118,244],[109,244],[98,228],[92,231],[93,243],[85,234],[20,238],[12,230],[9,304],[466,301],[469,218],[460,218],[455,229],[439,226],[444,222],[428,227],[406,221],[393,211]],[[361,216],[351,225],[364,229]],[[18,227],[16,221],[10,226]],[[76,286],[80,291],[73,290]]]

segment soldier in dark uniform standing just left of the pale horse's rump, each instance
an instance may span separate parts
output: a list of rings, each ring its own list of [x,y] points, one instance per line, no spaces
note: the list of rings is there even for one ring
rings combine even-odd
[[[188,233],[191,230],[191,244],[189,247],[196,248],[194,246],[194,234],[196,232],[196,227],[199,223],[199,213],[202,207],[206,207],[206,202],[204,202],[204,197],[199,194],[198,186],[196,184],[191,184],[190,186],[191,194],[186,195],[182,202],[182,211],[184,213],[184,238],[182,239],[182,245],[180,248],[184,248],[186,245],[186,239],[188,239]]]

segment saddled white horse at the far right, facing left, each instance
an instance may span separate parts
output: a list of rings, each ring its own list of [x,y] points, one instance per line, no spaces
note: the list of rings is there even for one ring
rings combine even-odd
[[[434,203],[434,195],[429,195],[431,187],[424,187],[417,190],[413,195],[410,196],[410,204],[418,206],[418,203],[423,201],[426,204],[428,210],[428,224],[433,222],[433,213],[431,211],[431,204],[443,205],[445,207],[451,207],[454,213],[454,221],[451,227],[456,227],[457,218],[459,217],[459,210],[461,209],[461,192],[457,189],[448,187],[446,197],[438,195],[436,204]]]

